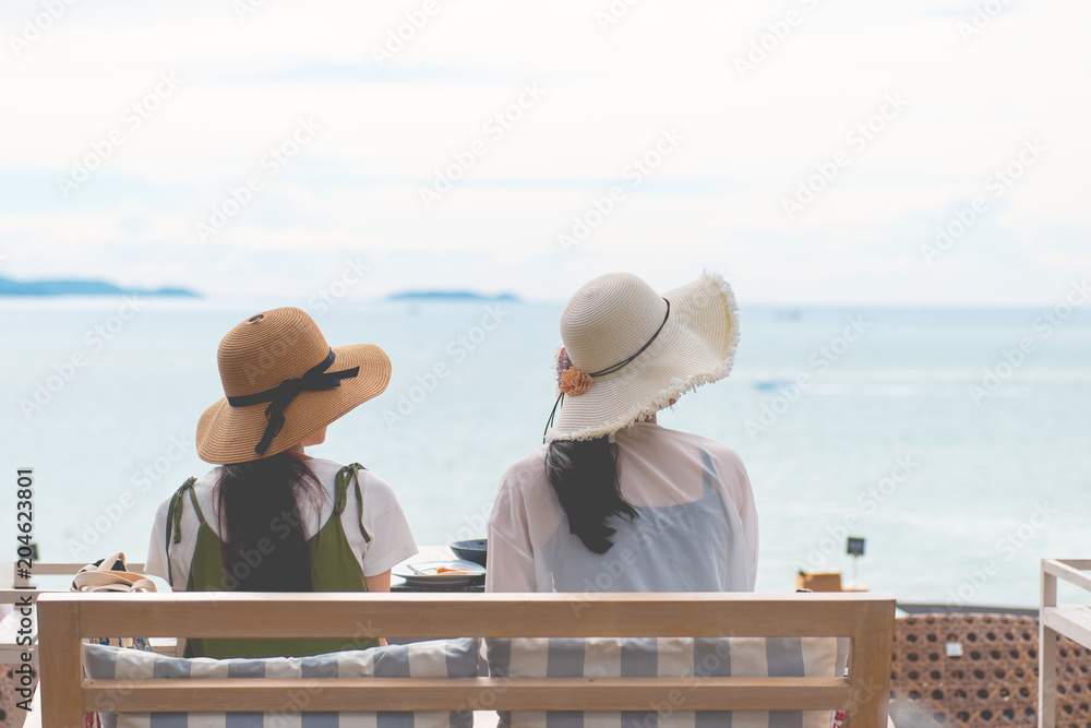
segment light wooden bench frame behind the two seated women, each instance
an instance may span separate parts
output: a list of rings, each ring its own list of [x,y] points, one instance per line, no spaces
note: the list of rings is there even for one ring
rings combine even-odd
[[[268,711],[299,680],[85,680],[95,636],[387,637],[846,636],[847,678],[320,679],[312,711],[647,711],[679,691],[687,711],[847,708],[853,728],[887,725],[895,600],[875,594],[43,594],[43,726],[85,711]],[[121,690],[123,684],[123,690]]]

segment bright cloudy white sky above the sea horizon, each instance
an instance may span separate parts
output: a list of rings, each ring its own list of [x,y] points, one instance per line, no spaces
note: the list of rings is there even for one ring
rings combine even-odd
[[[1091,271],[1083,0],[5,0],[0,276],[209,297]]]

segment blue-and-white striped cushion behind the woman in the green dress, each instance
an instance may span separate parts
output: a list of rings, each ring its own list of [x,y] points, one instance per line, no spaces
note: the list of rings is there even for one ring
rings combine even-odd
[[[470,728],[471,712],[308,713],[309,678],[476,678],[480,641],[435,640],[312,657],[213,659],[85,644],[87,677],[99,680],[302,678],[269,713],[103,713],[103,728]],[[200,692],[194,692],[200,701]],[[199,704],[199,703],[197,703]]]

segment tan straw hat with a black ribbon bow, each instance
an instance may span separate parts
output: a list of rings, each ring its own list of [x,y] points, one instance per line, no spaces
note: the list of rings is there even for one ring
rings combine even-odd
[[[391,381],[381,348],[332,349],[297,308],[250,317],[224,337],[216,358],[227,396],[201,416],[197,454],[223,465],[281,453]]]

